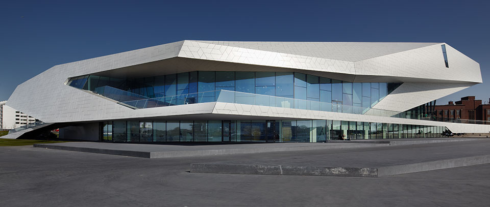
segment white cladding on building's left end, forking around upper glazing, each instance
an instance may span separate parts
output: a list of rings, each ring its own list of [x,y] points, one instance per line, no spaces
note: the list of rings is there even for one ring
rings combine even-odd
[[[147,114],[145,110],[134,111],[63,83],[69,77],[175,57],[182,43],[180,41],[54,66],[18,85],[7,104],[43,122],[142,116]]]

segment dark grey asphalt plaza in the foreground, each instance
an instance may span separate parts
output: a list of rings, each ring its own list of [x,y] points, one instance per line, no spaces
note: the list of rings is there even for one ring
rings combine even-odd
[[[467,147],[468,151],[472,150],[471,144]],[[382,148],[372,147],[372,150]],[[342,151],[366,150],[370,149]],[[145,159],[32,146],[0,147],[0,206],[487,206],[490,203],[490,164],[384,178],[188,172],[190,163],[267,157],[295,159],[308,155],[316,158],[320,154],[330,159],[331,152]]]

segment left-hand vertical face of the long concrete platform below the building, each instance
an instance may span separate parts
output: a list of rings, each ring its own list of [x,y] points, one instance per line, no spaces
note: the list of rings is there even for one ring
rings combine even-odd
[[[98,148],[91,148],[91,147],[64,146],[64,145],[54,145],[54,144],[34,144],[33,146],[41,147],[45,149],[54,149],[54,150],[68,150],[68,151],[85,152],[85,153],[151,158],[150,152],[108,150],[108,149],[98,149]]]

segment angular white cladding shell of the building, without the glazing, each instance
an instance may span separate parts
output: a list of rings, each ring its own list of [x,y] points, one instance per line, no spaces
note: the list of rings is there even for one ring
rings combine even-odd
[[[362,106],[367,110],[356,114],[352,112],[353,109],[349,109],[351,112],[346,113],[285,106],[284,104],[278,106],[242,104],[236,101],[220,102],[218,95],[215,97],[217,100],[212,102],[185,103],[185,105],[170,104],[170,106],[165,107],[135,109],[124,104],[118,104],[118,100],[104,97],[104,95],[97,94],[93,90],[69,85],[69,81],[73,80],[72,78],[88,77],[88,75],[118,78],[118,80],[133,80],[132,78],[145,80],[144,78],[152,77],[152,81],[155,80],[152,82],[155,85],[152,90],[157,90],[154,77],[193,73],[195,71],[290,73],[294,74],[295,78],[292,84],[296,84],[296,74],[302,74],[305,77],[331,78],[332,81],[338,80],[346,84],[378,84],[379,82],[388,83],[388,85],[396,83],[397,87],[388,92],[389,94],[380,97],[379,101],[376,100],[374,104],[371,101],[369,107]],[[278,75],[275,77],[277,80]],[[238,80],[238,78],[235,77],[233,81]],[[191,81],[190,78],[188,80]],[[81,124],[145,119],[167,121],[308,119],[444,126],[453,132],[488,133],[490,128],[485,125],[469,126],[391,117],[391,115],[407,111],[481,82],[479,64],[445,43],[185,40],[54,66],[18,85],[7,105],[30,114],[44,123]],[[200,84],[200,82],[198,81],[196,84]],[[217,83],[213,84],[215,85],[214,89],[218,90]],[[309,82],[308,85],[310,85]],[[125,87],[128,88],[128,86]],[[177,87],[179,87],[178,84]],[[265,87],[267,86],[261,88]],[[275,85],[274,87],[276,91],[279,90],[279,86]],[[296,85],[292,87],[296,87]],[[352,84],[351,86],[344,85],[345,87],[352,87]],[[376,92],[377,88],[375,87],[373,86],[372,90]],[[235,88],[235,82],[233,82],[233,88]],[[258,94],[258,90],[261,88],[258,88],[253,94]],[[352,93],[356,96],[355,89],[350,90],[350,92],[344,91],[346,93],[344,102],[338,103],[350,104],[355,108],[356,103],[347,100],[352,97]],[[379,90],[381,91],[381,89]],[[187,88],[188,94],[190,91]],[[331,89],[331,91],[334,90]],[[177,92],[179,93],[178,88]],[[156,93],[156,91],[152,93]],[[295,96],[290,98],[296,99],[297,93],[295,92]],[[310,93],[309,88],[308,93]],[[277,95],[272,95],[272,97],[274,96]],[[310,100],[309,97],[308,100]],[[316,99],[312,98],[312,100]],[[335,104],[338,103],[335,102]],[[380,111],[383,115],[379,115]],[[415,128],[413,129],[415,130]]]

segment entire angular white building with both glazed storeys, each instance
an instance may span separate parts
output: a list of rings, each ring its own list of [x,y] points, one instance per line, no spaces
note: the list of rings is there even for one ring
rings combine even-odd
[[[86,140],[435,137],[490,132],[421,107],[481,82],[479,64],[446,43],[184,40],[54,66],[7,104]]]

